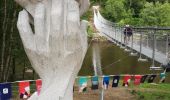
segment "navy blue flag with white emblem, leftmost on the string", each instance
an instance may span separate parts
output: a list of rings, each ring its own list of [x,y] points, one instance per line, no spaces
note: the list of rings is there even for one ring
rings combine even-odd
[[[10,100],[12,96],[11,84],[2,83],[0,84],[0,100]]]

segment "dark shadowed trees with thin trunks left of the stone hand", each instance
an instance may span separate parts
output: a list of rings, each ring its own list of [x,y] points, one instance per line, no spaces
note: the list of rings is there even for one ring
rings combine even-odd
[[[16,79],[15,69],[22,70],[15,68],[16,64],[22,65],[24,61],[29,64],[16,28],[19,9],[14,0],[0,1],[0,82]]]

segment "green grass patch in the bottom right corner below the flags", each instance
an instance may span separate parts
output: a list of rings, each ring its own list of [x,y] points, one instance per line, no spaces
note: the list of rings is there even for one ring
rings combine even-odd
[[[144,83],[130,91],[138,100],[170,100],[170,84]]]

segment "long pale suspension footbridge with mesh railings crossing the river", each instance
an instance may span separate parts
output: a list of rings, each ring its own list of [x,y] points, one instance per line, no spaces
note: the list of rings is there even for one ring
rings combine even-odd
[[[152,59],[150,69],[161,70],[162,65],[169,63],[169,35],[170,28],[133,28],[131,39],[124,40],[123,27],[106,20],[99,12],[98,7],[94,8],[94,25],[99,34],[114,42],[132,56],[139,54],[138,61],[147,61],[144,57]],[[155,61],[160,66],[155,66]]]

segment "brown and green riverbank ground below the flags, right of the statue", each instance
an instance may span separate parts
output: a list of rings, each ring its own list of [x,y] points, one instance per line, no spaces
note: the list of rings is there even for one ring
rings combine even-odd
[[[104,92],[104,100],[170,100],[170,84],[144,83],[136,87],[111,88]],[[100,100],[100,91],[74,92],[74,100]]]

